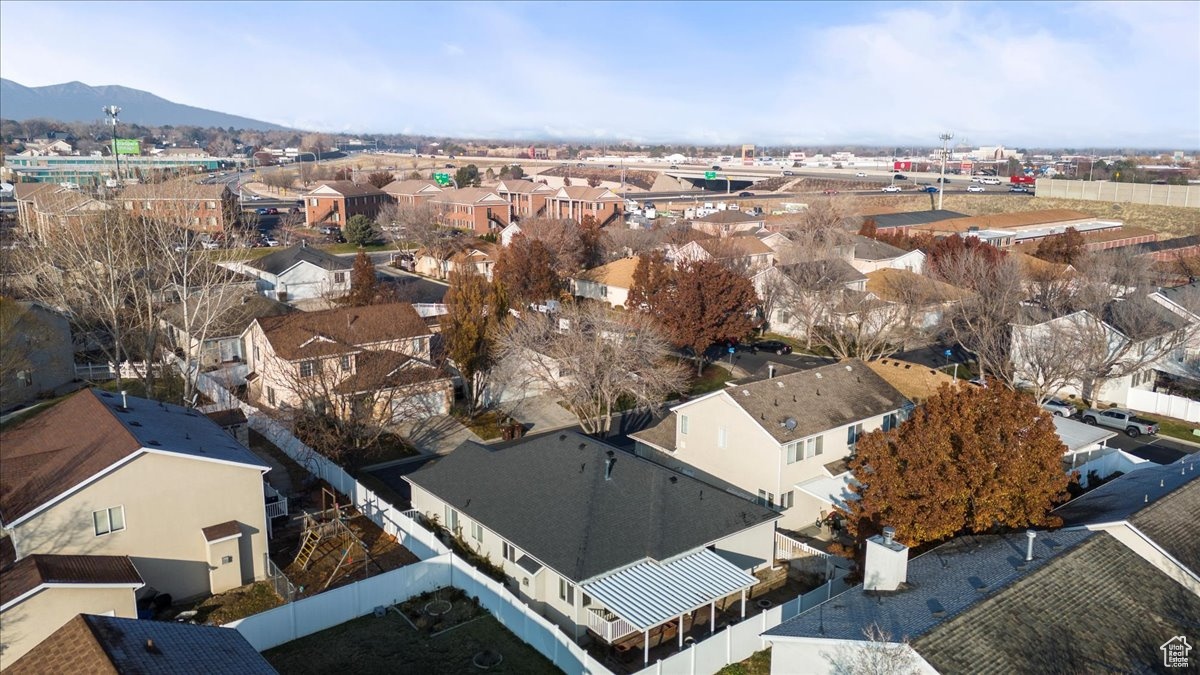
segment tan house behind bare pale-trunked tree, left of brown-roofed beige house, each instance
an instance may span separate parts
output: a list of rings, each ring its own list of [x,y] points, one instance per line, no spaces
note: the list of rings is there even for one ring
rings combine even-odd
[[[212,291],[191,298],[186,306],[175,303],[166,307],[162,323],[174,348],[197,359],[200,368],[209,368],[245,362],[241,334],[250,323],[290,311],[294,307],[254,291]]]

